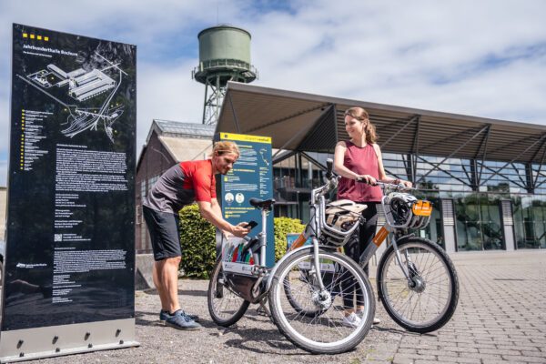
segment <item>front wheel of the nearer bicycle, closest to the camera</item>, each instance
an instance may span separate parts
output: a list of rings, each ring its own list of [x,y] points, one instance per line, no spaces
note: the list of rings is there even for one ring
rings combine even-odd
[[[338,354],[368,334],[375,314],[373,292],[352,259],[321,250],[319,261],[316,268],[314,253],[307,249],[284,261],[272,280],[269,308],[280,332],[298,348]],[[318,274],[325,289],[319,288]],[[362,319],[351,323],[345,317],[357,307],[363,308]]]

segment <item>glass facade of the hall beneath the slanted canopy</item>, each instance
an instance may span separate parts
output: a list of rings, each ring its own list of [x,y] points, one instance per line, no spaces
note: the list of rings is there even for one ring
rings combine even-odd
[[[328,157],[295,153],[274,166],[275,190],[284,201],[276,216],[308,220],[310,190],[322,183]],[[450,199],[456,250],[502,250],[512,240],[513,248],[546,248],[546,166],[392,153],[383,153],[383,165],[387,175],[413,180],[416,196],[432,202],[421,237],[446,247],[443,218],[450,211],[442,211],[442,200]],[[511,207],[508,215],[503,204]]]

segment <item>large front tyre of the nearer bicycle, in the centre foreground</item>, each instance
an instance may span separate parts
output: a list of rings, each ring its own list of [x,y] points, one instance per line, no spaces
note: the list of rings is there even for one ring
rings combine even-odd
[[[301,250],[287,258],[278,267],[269,290],[269,309],[279,331],[298,348],[313,354],[339,354],[355,348],[368,334],[375,315],[373,290],[368,277],[352,259],[325,250],[319,251],[321,269],[323,264],[334,267],[334,272],[330,272],[334,277],[332,282],[325,286],[327,289],[319,292],[319,288],[313,286],[314,283],[296,280],[299,279],[298,269],[301,268],[301,264],[310,266],[313,264],[313,259],[314,255],[310,249]],[[326,273],[321,270],[322,275]],[[317,306],[314,317],[308,317],[292,307],[283,287],[287,279],[291,280],[292,292],[298,292],[301,295],[310,292],[307,298],[309,305]],[[344,281],[345,286],[349,288],[344,292],[334,292],[341,281]],[[306,285],[312,287],[304,289]],[[352,296],[351,299],[354,299],[357,287],[361,289],[363,295],[364,314],[358,327],[349,328],[341,324],[345,312],[342,298],[349,294]],[[303,302],[304,299],[298,298],[298,302]]]

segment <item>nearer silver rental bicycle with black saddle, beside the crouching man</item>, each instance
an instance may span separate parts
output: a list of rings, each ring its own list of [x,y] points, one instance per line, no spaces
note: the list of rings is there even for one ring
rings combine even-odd
[[[208,311],[217,325],[233,325],[250,304],[259,304],[281,333],[311,353],[341,353],[368,334],[375,314],[373,290],[359,265],[339,252],[361,216],[349,214],[341,226],[331,221],[326,197],[338,184],[331,168],[330,161],[327,183],[311,193],[306,232],[294,244],[312,243],[291,249],[273,268],[266,267],[266,216],[274,200],[250,199],[261,210],[262,231],[222,242],[207,291]],[[351,324],[346,317],[357,303],[360,319]]]

